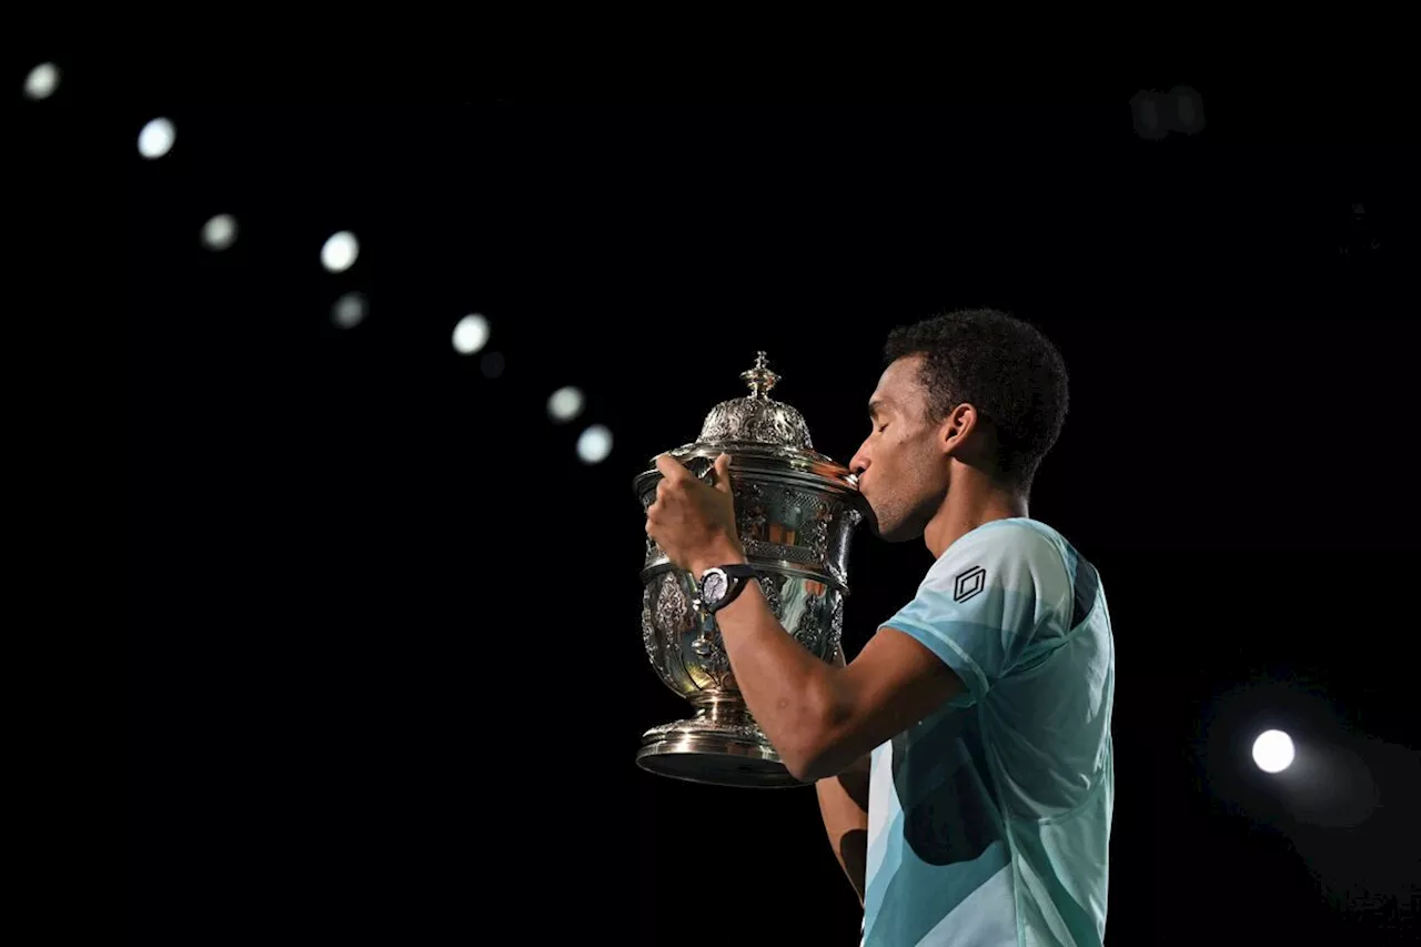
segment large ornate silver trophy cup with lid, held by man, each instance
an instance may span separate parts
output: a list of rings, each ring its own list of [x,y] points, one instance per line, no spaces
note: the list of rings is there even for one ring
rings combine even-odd
[[[779,381],[757,353],[740,374],[747,397],[722,401],[701,437],[671,455],[705,476],[730,455],[740,542],[786,631],[831,661],[848,594],[848,546],[864,508],[857,478],[813,449],[799,411],[769,397]],[[657,499],[652,466],[634,489],[645,510]],[[641,570],[641,637],[662,683],[695,708],[688,719],[642,735],[637,764],[649,772],[720,786],[797,786],[750,717],[735,684],[715,619],[701,613],[695,577],[674,566],[647,537]]]

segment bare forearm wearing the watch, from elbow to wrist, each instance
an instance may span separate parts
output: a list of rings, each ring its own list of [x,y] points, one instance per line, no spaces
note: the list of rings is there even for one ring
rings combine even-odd
[[[728,562],[745,559],[742,555],[713,565]],[[786,633],[759,582],[747,582],[740,596],[715,617],[746,708],[790,774],[803,778],[820,751],[831,710],[831,675],[838,668]]]

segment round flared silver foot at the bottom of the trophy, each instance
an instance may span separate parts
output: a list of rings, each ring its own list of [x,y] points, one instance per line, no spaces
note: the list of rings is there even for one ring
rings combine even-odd
[[[648,729],[637,751],[637,765],[658,776],[708,786],[809,785],[790,775],[739,701],[710,701],[691,719]]]

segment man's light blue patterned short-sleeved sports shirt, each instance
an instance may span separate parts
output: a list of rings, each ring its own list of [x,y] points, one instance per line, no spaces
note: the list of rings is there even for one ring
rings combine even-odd
[[[884,626],[966,691],[872,752],[864,947],[1101,944],[1115,648],[1100,574],[1050,526],[998,519]]]

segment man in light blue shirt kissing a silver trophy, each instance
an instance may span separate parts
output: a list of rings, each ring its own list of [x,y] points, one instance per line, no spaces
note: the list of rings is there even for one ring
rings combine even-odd
[[[1066,367],[996,310],[897,328],[885,364],[850,466],[874,532],[921,537],[934,563],[847,664],[804,650],[743,583],[716,611],[735,680],[789,771],[816,783],[865,947],[1098,946],[1114,638],[1096,569],[1027,516]],[[696,577],[746,562],[729,461],[710,485],[658,458],[647,532]]]

